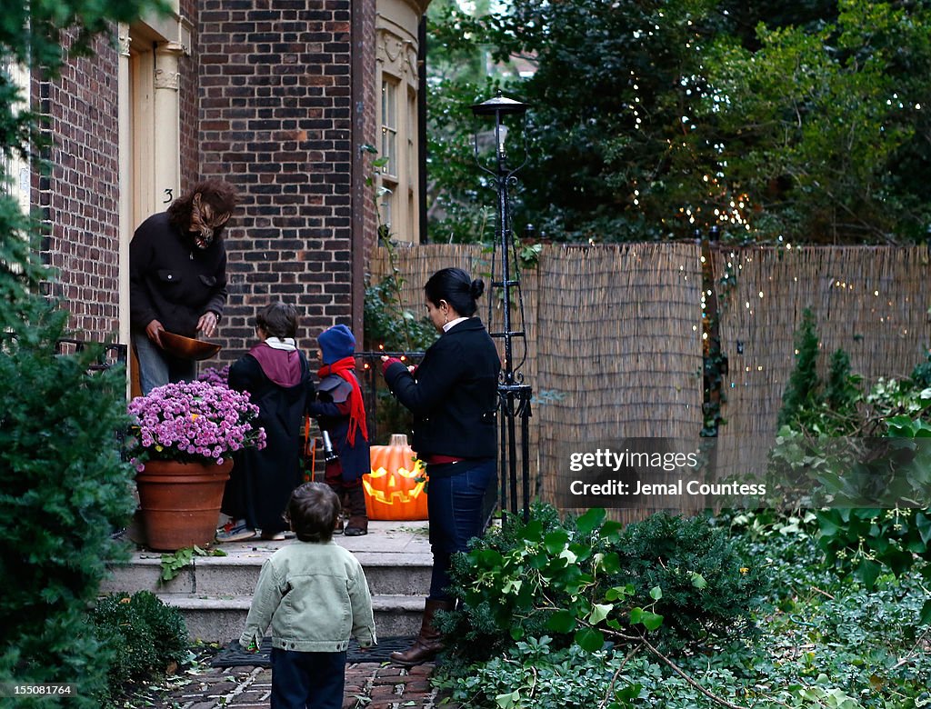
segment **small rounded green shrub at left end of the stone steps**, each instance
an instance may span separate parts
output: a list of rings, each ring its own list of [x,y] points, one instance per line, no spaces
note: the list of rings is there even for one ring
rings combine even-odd
[[[187,657],[187,627],[181,612],[148,591],[101,598],[93,622],[95,635],[113,650],[108,674],[112,695],[128,682],[172,672]]]

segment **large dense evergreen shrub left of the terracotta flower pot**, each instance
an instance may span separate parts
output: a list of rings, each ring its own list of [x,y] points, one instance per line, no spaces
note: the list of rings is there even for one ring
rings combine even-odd
[[[88,373],[100,350],[57,355],[68,314],[20,302],[0,346],[0,681],[73,683],[74,707],[96,707],[108,649],[83,633],[111,539],[135,503],[120,457],[126,373]],[[15,580],[15,582],[12,582]]]

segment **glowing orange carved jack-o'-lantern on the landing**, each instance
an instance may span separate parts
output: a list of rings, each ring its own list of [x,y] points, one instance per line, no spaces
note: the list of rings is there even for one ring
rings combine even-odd
[[[371,473],[362,475],[369,519],[426,519],[424,465],[408,445],[407,436],[394,434],[387,446],[371,447]]]

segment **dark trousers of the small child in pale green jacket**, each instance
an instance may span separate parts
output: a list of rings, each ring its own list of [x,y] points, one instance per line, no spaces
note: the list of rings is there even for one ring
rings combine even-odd
[[[342,709],[345,652],[272,648],[271,709]]]

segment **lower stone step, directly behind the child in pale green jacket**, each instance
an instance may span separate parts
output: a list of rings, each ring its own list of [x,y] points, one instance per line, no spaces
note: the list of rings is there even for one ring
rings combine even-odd
[[[204,596],[158,594],[169,606],[180,609],[192,640],[219,642],[238,639],[246,624],[251,595]],[[417,635],[420,630],[424,597],[412,595],[372,595],[375,632],[382,637]]]

